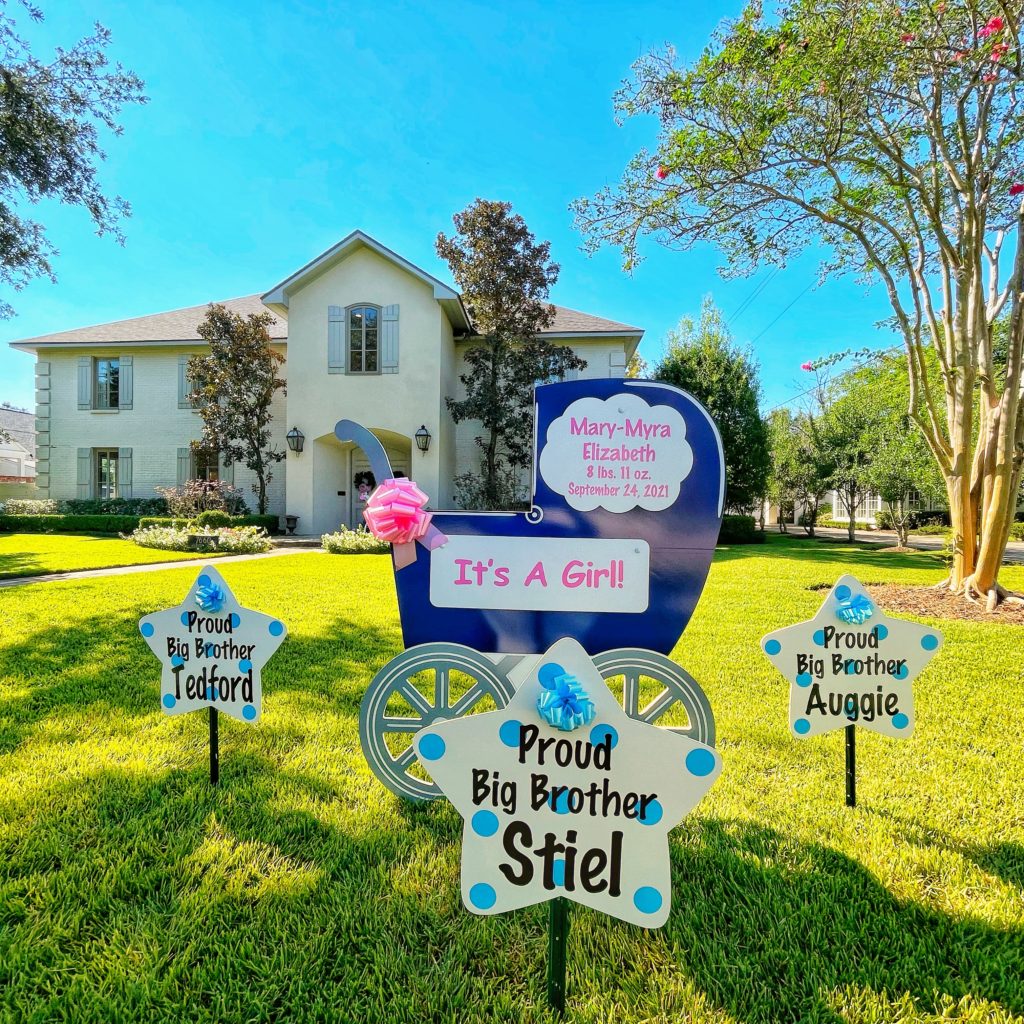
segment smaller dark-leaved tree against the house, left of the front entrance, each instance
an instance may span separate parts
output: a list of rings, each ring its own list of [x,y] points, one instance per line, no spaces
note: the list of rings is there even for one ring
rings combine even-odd
[[[286,452],[270,440],[270,407],[286,391],[278,368],[285,357],[270,347],[270,313],[240,316],[211,303],[199,326],[210,346],[208,355],[188,360],[189,398],[203,418],[203,439],[196,447],[218,453],[224,464],[241,462],[256,474],[253,493],[260,515],[266,513],[266,488],[271,467]]]

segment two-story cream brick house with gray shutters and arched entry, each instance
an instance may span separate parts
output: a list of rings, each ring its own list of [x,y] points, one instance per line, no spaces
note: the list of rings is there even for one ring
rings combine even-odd
[[[460,395],[473,327],[459,294],[397,253],[353,231],[262,296],[229,299],[246,314],[269,309],[271,341],[286,356],[287,396],[274,404],[272,436],[304,435],[301,453],[273,469],[270,511],[300,517],[318,535],[361,521],[354,486],[369,469],[334,426],[351,419],[380,438],[395,471],[413,477],[434,508],[451,507],[454,478],[475,470],[472,423],[457,427],[444,399]],[[187,399],[185,367],[203,351],[206,305],[12,342],[36,355],[38,486],[52,498],[148,497],[189,478],[230,479],[252,505],[241,465],[198,461],[202,434]],[[580,377],[621,377],[643,332],[556,307],[544,335],[587,360]],[[415,435],[430,433],[428,451]]]

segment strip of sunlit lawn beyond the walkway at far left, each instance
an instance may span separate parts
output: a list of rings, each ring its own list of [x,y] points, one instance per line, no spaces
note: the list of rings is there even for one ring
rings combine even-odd
[[[195,551],[140,548],[119,537],[92,534],[0,534],[0,580],[189,558],[209,559],[210,556]]]

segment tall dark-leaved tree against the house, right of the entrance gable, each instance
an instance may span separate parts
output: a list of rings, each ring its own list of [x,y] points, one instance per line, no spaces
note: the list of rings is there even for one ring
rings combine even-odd
[[[587,364],[538,334],[555,315],[548,302],[558,280],[551,244],[536,242],[510,203],[477,199],[452,219],[456,233],[438,232],[437,255],[451,267],[479,337],[459,376],[464,396],[444,401],[456,423],[476,420],[482,431],[479,477],[466,474],[456,485],[464,504],[498,509],[518,497],[516,481],[532,457],[534,387]]]

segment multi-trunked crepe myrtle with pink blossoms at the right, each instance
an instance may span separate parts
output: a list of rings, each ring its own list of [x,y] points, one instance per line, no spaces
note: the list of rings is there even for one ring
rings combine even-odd
[[[1021,16],[1020,0],[784,0],[769,17],[752,0],[692,65],[634,66],[617,110],[659,119],[656,151],[575,204],[627,267],[650,233],[716,243],[736,274],[823,246],[825,274],[881,283],[949,501],[943,586],[990,608],[1024,465]]]

